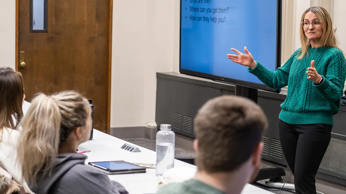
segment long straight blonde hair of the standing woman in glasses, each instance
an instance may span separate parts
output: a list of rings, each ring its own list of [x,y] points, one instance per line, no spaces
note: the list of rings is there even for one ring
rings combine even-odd
[[[336,38],[335,38],[334,30],[333,30],[333,22],[331,21],[328,11],[322,7],[310,7],[304,11],[300,22],[304,21],[304,17],[306,13],[308,13],[309,11],[311,11],[312,13],[315,13],[317,18],[321,22],[321,27],[323,30],[323,34],[321,37],[321,46],[335,47],[339,49]],[[301,42],[301,49],[299,51],[300,56],[298,57],[298,59],[302,59],[308,53],[308,46],[311,43],[311,41],[305,36],[304,28],[302,25],[300,26],[300,42]]]

